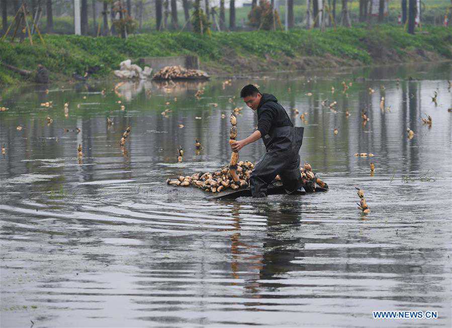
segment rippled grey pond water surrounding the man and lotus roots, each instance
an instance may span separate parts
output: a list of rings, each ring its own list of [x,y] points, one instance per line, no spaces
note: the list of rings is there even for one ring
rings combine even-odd
[[[2,90],[0,106],[9,108],[0,113],[2,327],[31,320],[33,327],[450,326],[447,79],[449,63],[260,74],[224,89],[218,79]],[[342,81],[352,82],[346,93]],[[212,201],[163,183],[228,162],[230,125],[221,114],[243,106],[238,93],[248,82],[274,93],[295,125],[306,127],[302,160],[330,191]],[[46,101],[53,106],[40,105]],[[431,129],[421,123],[424,113]],[[244,107],[238,138],[255,125]],[[63,130],[76,127],[79,133]],[[204,147],[199,154],[195,138]],[[240,158],[256,161],[263,152],[259,141]],[[366,217],[356,208],[356,185],[366,192]],[[373,310],[410,309],[436,310],[438,319],[372,318]]]

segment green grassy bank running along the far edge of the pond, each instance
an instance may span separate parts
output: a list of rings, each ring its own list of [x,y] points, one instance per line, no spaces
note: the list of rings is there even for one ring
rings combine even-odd
[[[52,80],[69,79],[89,67],[101,69],[104,77],[118,69],[122,60],[146,56],[195,54],[210,72],[244,72],[278,69],[356,66],[409,61],[452,59],[452,29],[424,27],[409,35],[400,27],[380,25],[369,30],[295,30],[285,32],[213,33],[211,37],[192,33],[151,33],[92,38],[75,35],[46,35],[46,46],[36,38],[12,45],[0,42],[3,62],[28,70],[38,64],[47,67]],[[0,84],[14,84],[23,78],[0,66]]]

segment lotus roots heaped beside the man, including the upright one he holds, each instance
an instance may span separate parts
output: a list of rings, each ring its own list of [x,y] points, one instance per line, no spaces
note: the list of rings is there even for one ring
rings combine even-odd
[[[231,130],[229,133],[229,143],[235,141],[237,137],[237,119],[231,114],[230,117]],[[166,183],[174,186],[196,186],[205,191],[220,192],[227,188],[237,190],[242,187],[249,186],[249,178],[254,169],[254,164],[250,161],[239,161],[239,154],[232,152],[231,161],[229,165],[222,167],[215,172],[195,173],[193,175],[179,176],[177,179],[167,179]],[[321,188],[328,189],[328,185],[321,179],[317,178],[312,172],[312,167],[309,163],[305,163],[304,167],[300,168],[303,187],[308,192],[315,191],[317,184]],[[281,177],[276,176],[275,181],[280,181]]]

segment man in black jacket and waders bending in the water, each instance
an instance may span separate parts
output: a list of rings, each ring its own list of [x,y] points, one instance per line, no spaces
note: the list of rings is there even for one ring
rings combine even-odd
[[[248,138],[235,141],[231,149],[238,152],[244,146],[262,138],[266,153],[254,166],[249,179],[253,197],[265,197],[268,184],[279,174],[284,188],[292,193],[302,186],[300,147],[304,128],[295,128],[284,107],[273,94],[261,93],[248,84],[240,91],[248,107],[257,111],[257,130]]]

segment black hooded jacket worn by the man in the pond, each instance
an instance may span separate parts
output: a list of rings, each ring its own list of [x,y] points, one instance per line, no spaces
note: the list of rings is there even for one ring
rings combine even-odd
[[[271,146],[266,142],[266,139],[268,139],[267,135],[273,135],[277,127],[286,126],[293,127],[294,125],[284,107],[273,94],[263,93],[257,107],[257,130],[262,135],[262,140],[267,149]]]

